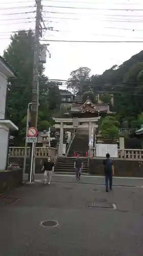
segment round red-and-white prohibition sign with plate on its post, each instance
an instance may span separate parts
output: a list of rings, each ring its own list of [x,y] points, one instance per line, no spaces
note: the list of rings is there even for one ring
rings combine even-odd
[[[35,127],[30,127],[27,132],[26,141],[27,143],[32,143],[32,157],[31,157],[31,168],[30,168],[30,183],[32,182],[33,164],[34,164],[34,153],[35,153],[35,143],[37,143],[38,131]]]

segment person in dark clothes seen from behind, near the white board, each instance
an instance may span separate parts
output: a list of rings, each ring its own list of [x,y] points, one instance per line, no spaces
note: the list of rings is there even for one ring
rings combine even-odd
[[[104,165],[104,174],[105,174],[105,186],[106,186],[106,192],[112,190],[112,176],[113,174],[113,161],[110,158],[110,154],[106,154],[106,159],[103,160],[103,165]],[[109,188],[108,188],[108,183],[109,183]]]

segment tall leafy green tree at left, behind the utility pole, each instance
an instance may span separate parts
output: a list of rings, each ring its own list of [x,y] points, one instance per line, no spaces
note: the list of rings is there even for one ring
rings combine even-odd
[[[16,79],[10,81],[7,118],[11,119],[19,128],[16,136],[18,141],[23,140],[26,126],[27,105],[32,101],[32,79],[33,79],[33,53],[34,53],[34,33],[21,30],[11,36],[11,43],[4,51],[4,59],[16,72]],[[39,117],[38,130],[48,129],[52,123],[52,110],[49,105],[54,101],[55,93],[49,96],[51,88],[48,88],[48,78],[44,75],[44,67],[39,63]],[[58,90],[56,98],[58,97]],[[60,91],[59,91],[60,97]],[[56,105],[56,104],[55,104]]]

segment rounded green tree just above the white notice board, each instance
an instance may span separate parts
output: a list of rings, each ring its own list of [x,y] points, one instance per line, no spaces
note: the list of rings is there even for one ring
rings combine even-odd
[[[104,139],[115,139],[119,135],[119,121],[115,117],[106,116],[101,120],[100,130]]]

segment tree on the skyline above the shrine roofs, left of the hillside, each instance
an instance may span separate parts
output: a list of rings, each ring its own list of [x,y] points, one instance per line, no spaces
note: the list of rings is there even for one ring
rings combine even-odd
[[[67,88],[71,89],[73,94],[80,93],[82,95],[83,88],[90,80],[91,70],[87,67],[80,67],[70,73],[70,78],[67,81]]]

